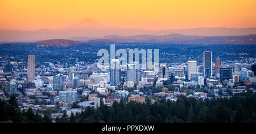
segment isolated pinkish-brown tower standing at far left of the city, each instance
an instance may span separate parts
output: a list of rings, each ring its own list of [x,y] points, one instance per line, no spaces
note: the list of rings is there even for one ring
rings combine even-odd
[[[35,55],[28,55],[27,57],[27,81],[35,80]]]

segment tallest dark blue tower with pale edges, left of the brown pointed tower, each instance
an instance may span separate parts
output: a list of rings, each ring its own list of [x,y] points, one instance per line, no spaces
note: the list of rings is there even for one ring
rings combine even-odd
[[[212,76],[212,51],[204,51],[204,79]]]

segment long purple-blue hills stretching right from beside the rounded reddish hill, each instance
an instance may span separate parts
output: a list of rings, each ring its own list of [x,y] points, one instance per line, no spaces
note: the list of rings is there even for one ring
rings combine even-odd
[[[256,44],[256,34],[247,36],[185,36],[183,34],[168,34],[166,36],[105,36],[88,43],[109,44],[112,42],[158,43],[158,44]]]

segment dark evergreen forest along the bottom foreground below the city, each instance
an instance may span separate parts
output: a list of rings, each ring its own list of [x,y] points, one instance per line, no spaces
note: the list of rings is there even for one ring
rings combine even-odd
[[[196,100],[193,97],[179,96],[176,102],[160,100],[154,104],[114,102],[101,105],[98,109],[86,108],[81,114],[56,118],[55,122],[256,122],[256,94],[248,91],[243,96]],[[9,101],[0,101],[1,122],[52,122],[49,115],[40,116],[31,109],[20,111],[14,96]]]

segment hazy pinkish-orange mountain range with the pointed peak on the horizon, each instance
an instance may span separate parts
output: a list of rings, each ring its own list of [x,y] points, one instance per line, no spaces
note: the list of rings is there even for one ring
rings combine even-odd
[[[185,36],[245,36],[249,34],[256,34],[256,28],[237,29],[221,27],[146,30],[110,27],[108,25],[98,23],[93,19],[86,18],[80,23],[68,25],[67,27],[59,29],[38,29],[34,31],[0,30],[0,42],[36,42],[49,40],[51,38],[72,39],[73,37],[88,37],[92,40],[104,36],[109,38],[109,35],[117,35],[115,37],[112,36],[112,38],[120,39],[121,37],[135,35],[164,36],[168,34],[183,34]],[[164,38],[162,38],[162,40],[164,40]]]

